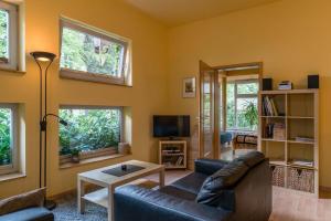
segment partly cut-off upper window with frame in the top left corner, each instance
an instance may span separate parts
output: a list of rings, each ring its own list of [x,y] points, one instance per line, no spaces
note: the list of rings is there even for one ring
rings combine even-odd
[[[18,9],[0,2],[0,67],[17,70]]]

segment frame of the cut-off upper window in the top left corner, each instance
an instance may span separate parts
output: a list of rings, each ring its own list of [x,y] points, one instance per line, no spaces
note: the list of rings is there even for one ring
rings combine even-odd
[[[9,13],[9,57],[8,62],[0,62],[0,67],[6,70],[18,70],[18,7],[0,1],[0,9]]]

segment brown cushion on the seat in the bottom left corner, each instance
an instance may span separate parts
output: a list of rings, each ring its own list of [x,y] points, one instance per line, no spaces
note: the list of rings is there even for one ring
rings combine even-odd
[[[40,207],[44,201],[46,189],[32,190],[0,201],[0,215],[21,209]]]

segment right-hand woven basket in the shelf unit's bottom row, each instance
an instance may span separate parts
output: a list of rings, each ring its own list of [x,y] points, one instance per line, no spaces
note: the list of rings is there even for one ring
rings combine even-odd
[[[288,188],[313,192],[313,170],[288,168]]]

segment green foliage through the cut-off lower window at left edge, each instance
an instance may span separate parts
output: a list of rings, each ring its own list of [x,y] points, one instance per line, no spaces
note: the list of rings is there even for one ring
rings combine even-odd
[[[11,110],[0,108],[0,166],[11,164]]]

